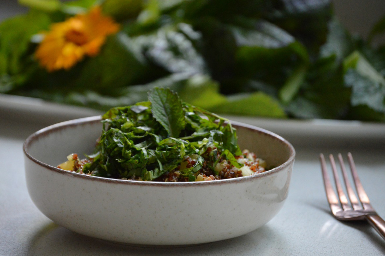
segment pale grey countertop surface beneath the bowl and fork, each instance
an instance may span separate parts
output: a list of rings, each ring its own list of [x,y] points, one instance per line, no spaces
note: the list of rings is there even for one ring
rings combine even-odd
[[[41,118],[43,120],[43,118]],[[385,147],[346,148],[296,145],[288,198],[268,224],[238,238],[179,248],[114,244],[57,226],[33,204],[25,185],[22,144],[44,127],[37,118],[2,117],[0,125],[0,255],[383,255],[385,241],[366,223],[341,223],[326,202],[318,155],[351,151],[368,196],[385,217]],[[385,136],[385,133],[384,133]],[[336,138],[338,140],[338,138]],[[301,146],[302,145],[302,146]],[[339,145],[339,146],[338,146]],[[90,212],[92,214],[92,212]],[[76,216],[74,216],[76,218]]]

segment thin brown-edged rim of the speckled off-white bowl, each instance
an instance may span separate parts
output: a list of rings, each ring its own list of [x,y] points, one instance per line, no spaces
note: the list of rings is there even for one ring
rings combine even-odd
[[[295,155],[296,151],[291,145],[290,142],[288,142],[286,139],[283,137],[279,136],[278,134],[275,134],[271,131],[268,131],[266,129],[256,127],[254,125],[249,125],[249,124],[244,124],[241,122],[235,122],[231,121],[231,125],[242,127],[244,129],[256,131],[261,134],[266,134],[273,139],[278,140],[282,144],[284,144],[286,147],[289,148],[290,150],[290,156],[289,159],[287,159],[283,164],[274,167],[273,169],[270,169],[268,171],[250,175],[250,176],[244,176],[244,177],[236,177],[236,178],[231,178],[231,179],[221,179],[221,180],[214,180],[214,181],[205,181],[205,182],[196,182],[196,181],[187,181],[187,182],[156,182],[156,181],[133,181],[133,180],[126,180],[126,179],[114,179],[114,178],[107,178],[107,177],[99,177],[99,176],[90,176],[90,175],[85,175],[85,174],[80,174],[77,172],[71,172],[71,171],[66,171],[63,169],[59,169],[55,166],[50,166],[49,164],[45,164],[42,161],[39,161],[35,157],[33,157],[29,152],[28,148],[30,145],[33,144],[33,142],[37,141],[40,137],[42,136],[48,136],[52,132],[57,132],[60,131],[61,129],[64,129],[66,127],[73,127],[77,125],[82,125],[82,124],[92,124],[96,122],[101,122],[102,117],[101,115],[96,115],[92,117],[83,117],[79,119],[73,119],[73,120],[68,120],[64,122],[60,122],[57,124],[49,125],[45,128],[40,129],[39,131],[34,132],[30,136],[27,137],[25,142],[23,143],[23,152],[24,155],[32,162],[35,164],[44,167],[45,169],[58,173],[58,174],[63,174],[66,176],[72,176],[75,178],[80,178],[80,179],[85,179],[85,180],[90,180],[90,181],[95,181],[95,182],[107,182],[107,183],[112,183],[112,184],[131,184],[131,185],[139,185],[139,186],[160,186],[160,187],[175,187],[175,186],[213,186],[213,185],[220,185],[220,184],[227,184],[227,183],[238,183],[238,182],[246,182],[246,181],[251,181],[254,179],[261,179],[264,176],[270,176],[273,175],[276,172],[280,172],[283,169],[286,169],[287,166],[290,166],[295,160]]]

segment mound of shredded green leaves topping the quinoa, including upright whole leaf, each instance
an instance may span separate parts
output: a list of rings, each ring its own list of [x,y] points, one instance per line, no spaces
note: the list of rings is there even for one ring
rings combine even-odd
[[[169,89],[155,88],[148,98],[103,115],[102,135],[84,173],[152,181],[181,166],[185,156],[196,158],[191,167],[179,169],[188,181],[195,181],[205,161],[216,175],[221,158],[241,167],[234,157],[242,153],[236,131],[230,123],[223,125],[226,119],[182,102]]]

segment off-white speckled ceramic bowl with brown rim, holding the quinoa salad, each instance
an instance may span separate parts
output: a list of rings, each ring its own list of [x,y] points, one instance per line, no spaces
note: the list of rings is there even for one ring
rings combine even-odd
[[[276,134],[233,125],[241,149],[277,167],[206,182],[127,181],[54,167],[71,153],[92,153],[102,128],[97,116],[51,125],[28,137],[23,145],[28,192],[52,221],[94,238],[176,246],[240,236],[266,224],[283,206],[295,150]]]

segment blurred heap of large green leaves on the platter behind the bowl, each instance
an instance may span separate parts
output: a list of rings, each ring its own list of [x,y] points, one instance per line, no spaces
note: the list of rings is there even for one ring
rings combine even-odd
[[[107,110],[169,87],[212,112],[385,120],[385,46],[348,33],[330,0],[21,2],[0,24],[0,93]],[[69,71],[39,67],[37,33],[95,3],[121,31]]]

